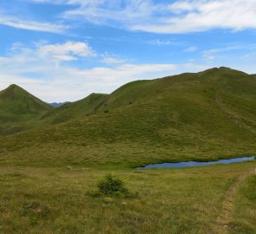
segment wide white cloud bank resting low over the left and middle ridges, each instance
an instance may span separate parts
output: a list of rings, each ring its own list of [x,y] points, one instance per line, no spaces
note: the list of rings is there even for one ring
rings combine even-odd
[[[115,63],[111,68],[86,68],[84,64],[84,68],[75,68],[60,62],[54,66],[56,60],[67,61],[69,56],[79,59],[91,55],[88,48],[84,42],[38,43],[33,49],[15,44],[8,56],[0,57],[0,90],[16,83],[43,101],[75,101],[93,92],[110,93],[128,81],[170,75],[178,68],[172,63]]]

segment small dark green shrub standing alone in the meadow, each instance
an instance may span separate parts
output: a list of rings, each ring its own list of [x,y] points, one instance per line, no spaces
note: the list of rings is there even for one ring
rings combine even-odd
[[[99,192],[106,196],[121,197],[129,195],[128,189],[124,186],[121,179],[115,178],[113,175],[108,174],[104,179],[98,183]]]

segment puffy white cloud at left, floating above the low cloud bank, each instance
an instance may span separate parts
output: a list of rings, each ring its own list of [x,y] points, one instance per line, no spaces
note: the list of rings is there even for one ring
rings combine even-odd
[[[44,72],[57,68],[61,62],[70,62],[81,58],[94,57],[96,53],[86,42],[64,42],[49,44],[35,43],[34,49],[14,43],[8,57],[0,57],[0,68],[9,68],[17,73]],[[53,66],[54,65],[54,66]]]

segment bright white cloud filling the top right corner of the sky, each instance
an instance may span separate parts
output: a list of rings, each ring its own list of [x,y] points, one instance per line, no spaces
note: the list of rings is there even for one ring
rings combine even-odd
[[[255,29],[254,0],[176,1],[169,5],[174,16],[166,16],[154,24],[141,23],[132,29],[155,33],[187,33],[208,29]]]

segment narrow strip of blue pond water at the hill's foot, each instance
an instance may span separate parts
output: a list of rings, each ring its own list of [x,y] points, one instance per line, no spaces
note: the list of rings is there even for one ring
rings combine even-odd
[[[160,163],[160,164],[149,164],[147,166],[140,166],[137,169],[149,169],[149,168],[177,168],[177,167],[189,167],[189,166],[207,166],[214,164],[231,164],[237,162],[245,162],[253,160],[254,156],[236,158],[236,159],[221,159],[218,161],[210,162],[197,162],[197,161],[188,161],[188,162],[177,162],[177,163]]]

